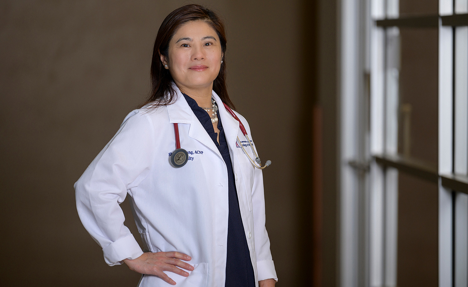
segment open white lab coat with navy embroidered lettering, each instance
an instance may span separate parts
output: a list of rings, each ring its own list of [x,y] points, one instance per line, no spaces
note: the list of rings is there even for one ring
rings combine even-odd
[[[229,153],[242,223],[256,281],[277,280],[265,229],[262,170],[256,169],[239,145],[247,142],[239,123],[216,93]],[[133,110],[117,134],[75,183],[77,209],[84,227],[102,247],[109,265],[138,258],[143,251],[119,207],[128,194],[146,249],[179,251],[191,256],[189,277],[166,272],[178,287],[223,287],[227,254],[228,178],[218,148],[177,89],[177,100],[157,109]],[[236,113],[250,135],[245,118]],[[178,123],[181,147],[189,161],[174,168],[173,123]],[[255,147],[255,144],[254,144]],[[249,146],[246,151],[250,151]],[[254,158],[253,155],[250,155]],[[171,286],[157,276],[144,275],[141,287]],[[258,286],[258,283],[257,283]]]

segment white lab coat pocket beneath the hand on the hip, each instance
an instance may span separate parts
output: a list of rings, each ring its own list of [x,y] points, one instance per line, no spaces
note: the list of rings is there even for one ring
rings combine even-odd
[[[192,264],[190,264],[192,265]],[[185,270],[189,273],[188,277],[178,275],[173,272],[163,271],[166,273],[169,278],[176,281],[176,287],[206,287],[208,280],[208,263],[199,263],[194,264],[193,270]],[[162,287],[162,286],[172,286],[166,281],[162,280],[158,276],[154,275],[143,275],[141,278],[138,287]]]

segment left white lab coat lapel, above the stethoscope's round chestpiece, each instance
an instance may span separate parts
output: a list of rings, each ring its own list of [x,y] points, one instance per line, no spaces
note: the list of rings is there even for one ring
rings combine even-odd
[[[213,140],[210,138],[208,133],[205,131],[205,128],[198,120],[197,116],[195,116],[192,109],[190,109],[189,104],[183,97],[180,90],[176,88],[176,91],[176,102],[167,105],[169,123],[189,124],[189,137],[199,141],[206,147],[210,148],[215,154],[217,154],[222,159],[223,157],[219,153],[218,147],[216,147]],[[181,146],[181,148],[184,147]]]

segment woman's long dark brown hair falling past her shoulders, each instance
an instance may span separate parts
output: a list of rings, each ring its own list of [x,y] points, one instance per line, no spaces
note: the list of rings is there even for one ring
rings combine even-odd
[[[226,88],[226,59],[224,59],[224,55],[227,40],[224,23],[213,11],[197,4],[188,4],[172,11],[159,27],[156,40],[154,40],[153,59],[151,61],[151,91],[146,101],[139,107],[146,104],[162,106],[173,103],[176,91],[172,87],[172,76],[169,70],[164,68],[159,53],[168,58],[170,40],[183,24],[190,21],[205,21],[218,34],[223,53],[223,63],[218,76],[213,81],[213,91],[221,98],[223,103],[234,109],[234,104],[229,99]]]

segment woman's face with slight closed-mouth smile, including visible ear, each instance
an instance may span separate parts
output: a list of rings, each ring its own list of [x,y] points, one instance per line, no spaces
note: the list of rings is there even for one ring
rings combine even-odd
[[[172,78],[182,90],[212,88],[221,67],[221,43],[216,31],[204,21],[187,22],[169,42],[168,65]]]

